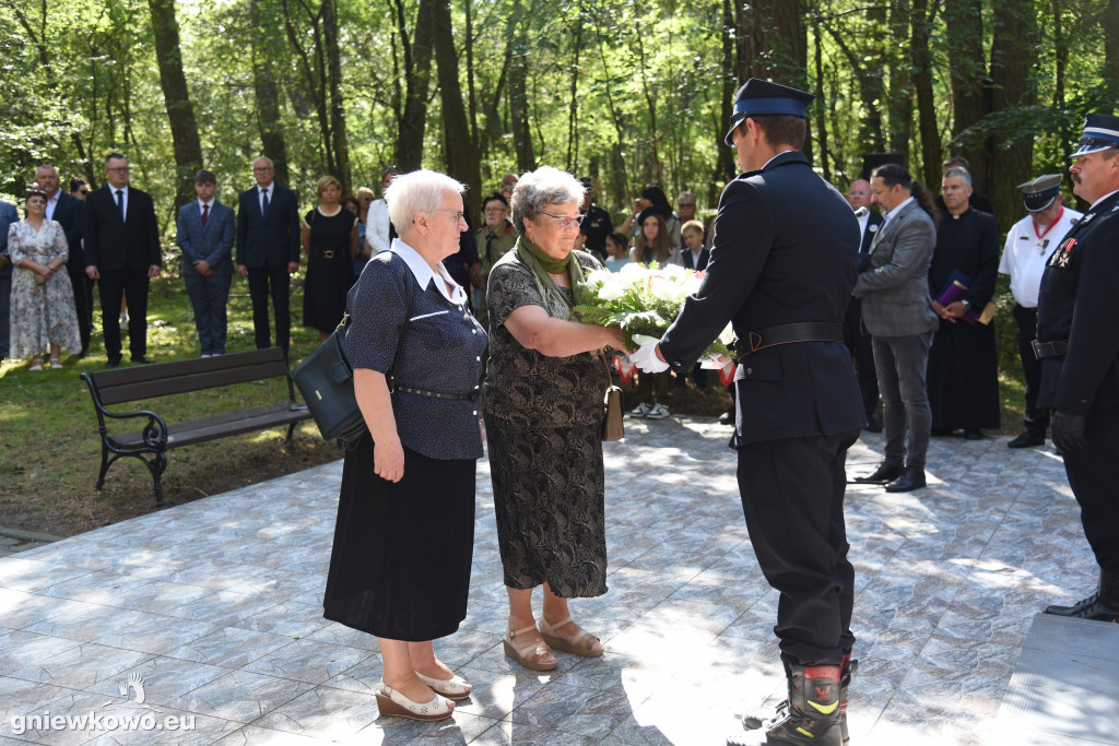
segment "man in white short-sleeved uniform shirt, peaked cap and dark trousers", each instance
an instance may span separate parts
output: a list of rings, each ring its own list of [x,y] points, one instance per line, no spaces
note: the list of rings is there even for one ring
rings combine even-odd
[[[1061,197],[1061,174],[1046,173],[1019,183],[1022,201],[1028,215],[1006,234],[1006,246],[998,264],[1000,274],[1010,275],[1014,295],[1014,321],[1018,324],[1018,358],[1026,378],[1026,429],[1006,445],[1026,448],[1045,444],[1050,410],[1037,406],[1037,389],[1042,365],[1034,356],[1037,336],[1037,291],[1042,284],[1045,262],[1081,214],[1064,206]]]

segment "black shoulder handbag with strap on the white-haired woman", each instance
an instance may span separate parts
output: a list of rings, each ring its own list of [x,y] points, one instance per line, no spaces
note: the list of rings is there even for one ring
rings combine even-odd
[[[401,357],[404,330],[412,315],[414,280],[411,273],[405,275],[404,281],[404,323],[401,324],[401,333],[396,340],[393,365],[385,374],[389,389],[395,377],[396,361]],[[347,450],[357,445],[369,432],[365,416],[357,406],[357,396],[354,394],[354,368],[346,355],[346,330],[349,328],[349,309],[347,309],[333,333],[307,356],[292,374],[295,386],[303,395],[303,402],[307,403],[307,408],[314,418],[314,424],[319,426],[323,440],[338,441]]]

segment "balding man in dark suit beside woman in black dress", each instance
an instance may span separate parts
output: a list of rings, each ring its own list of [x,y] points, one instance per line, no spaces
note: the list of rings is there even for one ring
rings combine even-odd
[[[237,204],[237,274],[248,278],[256,349],[272,346],[269,298],[275,313],[276,343],[288,353],[291,341],[291,274],[299,270],[299,206],[291,189],[273,180],[271,158],[253,161],[256,186]]]

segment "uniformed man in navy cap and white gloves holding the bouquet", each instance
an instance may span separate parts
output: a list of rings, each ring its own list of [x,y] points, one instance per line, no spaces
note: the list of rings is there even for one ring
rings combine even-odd
[[[798,152],[812,98],[756,78],[739,89],[726,143],[745,173],[720,200],[707,275],[634,362],[687,370],[733,321],[739,490],[759,565],[781,593],[774,632],[789,682],[777,718],[743,725],[753,743],[838,746],[855,642],[844,462],[866,424],[843,342],[859,230]]]

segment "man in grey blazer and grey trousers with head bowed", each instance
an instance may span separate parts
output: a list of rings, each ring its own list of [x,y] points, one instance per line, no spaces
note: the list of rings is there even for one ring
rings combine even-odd
[[[859,273],[854,295],[863,299],[863,323],[873,338],[886,453],[874,473],[855,481],[886,484],[888,492],[909,492],[925,485],[932,428],[925,369],[940,323],[929,295],[935,208],[929,191],[896,163],[871,173],[871,192],[882,205],[885,223],[871,244],[871,263]]]

